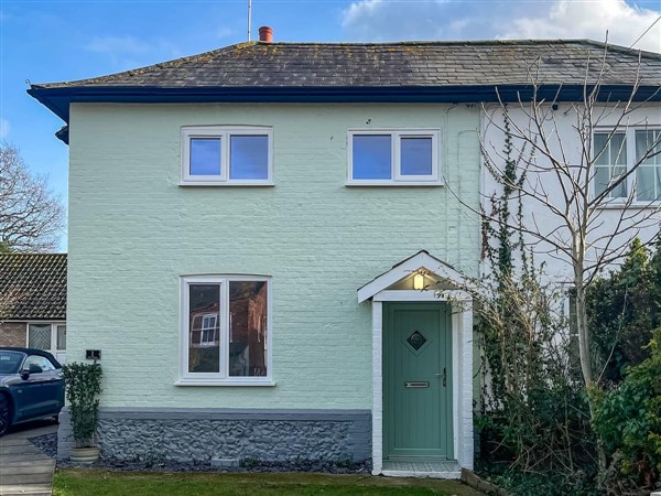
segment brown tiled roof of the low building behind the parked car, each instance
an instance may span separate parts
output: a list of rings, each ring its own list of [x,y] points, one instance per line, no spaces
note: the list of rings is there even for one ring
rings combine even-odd
[[[66,254],[0,254],[0,294],[13,294],[6,320],[66,319]]]

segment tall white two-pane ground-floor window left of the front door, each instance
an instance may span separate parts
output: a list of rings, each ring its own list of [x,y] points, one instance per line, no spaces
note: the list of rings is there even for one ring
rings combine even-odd
[[[182,278],[178,386],[273,386],[271,278]]]

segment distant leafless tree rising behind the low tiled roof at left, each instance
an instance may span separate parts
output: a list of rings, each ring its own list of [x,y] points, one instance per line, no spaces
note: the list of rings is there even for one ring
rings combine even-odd
[[[14,145],[0,144],[0,250],[54,251],[64,223],[46,179],[29,171]]]

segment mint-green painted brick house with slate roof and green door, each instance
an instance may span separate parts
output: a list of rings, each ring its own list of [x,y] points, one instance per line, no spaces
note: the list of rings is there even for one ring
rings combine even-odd
[[[102,352],[102,456],[472,468],[479,104],[525,98],[540,57],[572,101],[602,53],[264,41],[33,85],[67,125],[68,354]]]

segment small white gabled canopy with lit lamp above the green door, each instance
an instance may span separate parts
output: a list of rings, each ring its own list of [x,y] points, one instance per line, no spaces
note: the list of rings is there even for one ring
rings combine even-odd
[[[433,298],[435,291],[457,291],[468,285],[466,277],[454,267],[425,250],[420,250],[359,288],[358,303],[375,299],[384,291],[398,291],[402,298],[402,291],[426,291]]]

